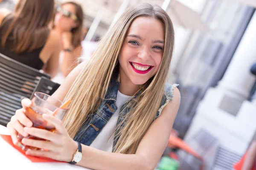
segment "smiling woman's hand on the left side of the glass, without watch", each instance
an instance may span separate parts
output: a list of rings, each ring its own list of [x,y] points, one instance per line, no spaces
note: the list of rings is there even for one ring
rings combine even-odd
[[[26,117],[26,108],[30,107],[32,104],[31,100],[23,99],[21,105],[23,108],[18,109],[14,116],[12,116],[11,121],[7,124],[7,128],[12,137],[12,142],[17,144],[17,135],[20,133],[22,136],[28,136],[28,133],[24,131],[24,126],[32,127],[33,123],[29,118]]]

